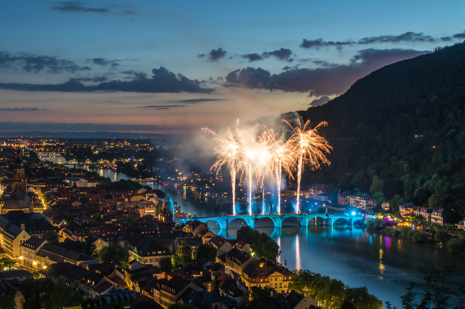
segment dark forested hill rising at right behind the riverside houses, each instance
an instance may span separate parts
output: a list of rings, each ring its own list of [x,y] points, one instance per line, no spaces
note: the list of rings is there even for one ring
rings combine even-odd
[[[465,43],[387,65],[299,114],[328,122],[322,134],[334,148],[331,166],[307,181],[419,206],[465,204]]]

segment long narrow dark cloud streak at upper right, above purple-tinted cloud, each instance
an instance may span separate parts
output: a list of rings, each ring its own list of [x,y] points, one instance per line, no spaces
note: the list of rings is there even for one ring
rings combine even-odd
[[[303,48],[312,48],[312,47],[327,47],[327,46],[336,46],[336,48],[341,49],[344,45],[367,45],[375,43],[425,43],[425,42],[438,42],[438,39],[433,38],[431,35],[424,35],[423,32],[405,32],[400,35],[380,35],[369,38],[359,39],[358,41],[346,40],[344,42],[333,42],[333,41],[323,41],[323,39],[307,40],[303,39],[300,47]]]

